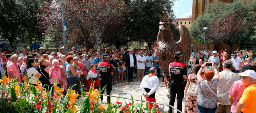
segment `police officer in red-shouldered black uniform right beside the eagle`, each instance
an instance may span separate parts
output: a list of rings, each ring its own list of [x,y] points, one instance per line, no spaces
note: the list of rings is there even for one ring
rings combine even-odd
[[[174,106],[175,97],[177,94],[177,109],[180,111],[182,111],[182,99],[184,97],[185,90],[184,80],[186,79],[187,75],[187,67],[184,63],[180,62],[181,57],[183,57],[182,52],[175,52],[175,61],[169,65],[169,88],[171,92],[169,105]],[[170,113],[172,113],[172,110],[170,111]]]

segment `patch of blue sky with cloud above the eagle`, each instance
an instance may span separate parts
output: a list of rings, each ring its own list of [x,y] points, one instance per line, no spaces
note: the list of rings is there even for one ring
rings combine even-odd
[[[192,15],[193,0],[179,0],[174,3],[173,12],[176,18],[188,18]]]

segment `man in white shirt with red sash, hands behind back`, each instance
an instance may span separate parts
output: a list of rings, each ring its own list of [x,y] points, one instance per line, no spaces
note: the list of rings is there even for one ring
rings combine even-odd
[[[142,91],[147,101],[155,102],[155,92],[158,88],[158,84],[159,79],[157,76],[155,76],[155,67],[151,67],[149,69],[149,74],[143,77],[140,83],[140,90]],[[151,109],[153,107],[153,103],[149,103],[149,105]]]

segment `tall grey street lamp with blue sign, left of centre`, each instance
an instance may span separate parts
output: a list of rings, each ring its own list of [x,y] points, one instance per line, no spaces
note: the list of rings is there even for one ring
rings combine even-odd
[[[65,36],[65,30],[64,30],[64,5],[68,3],[68,0],[58,0],[58,3],[61,5],[61,11],[62,11],[63,47],[64,47],[64,55],[66,55],[66,36]]]

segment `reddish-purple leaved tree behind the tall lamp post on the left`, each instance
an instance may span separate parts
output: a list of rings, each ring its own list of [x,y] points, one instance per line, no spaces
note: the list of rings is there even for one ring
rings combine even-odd
[[[43,5],[37,14],[45,28],[55,28],[62,32],[61,6],[57,0]],[[89,38],[101,44],[107,29],[115,29],[122,24],[121,16],[126,11],[122,0],[69,0],[65,6],[65,21],[68,24],[67,40],[71,43],[84,43],[88,48]],[[47,35],[47,30],[46,34]],[[59,39],[60,40],[60,39]]]

